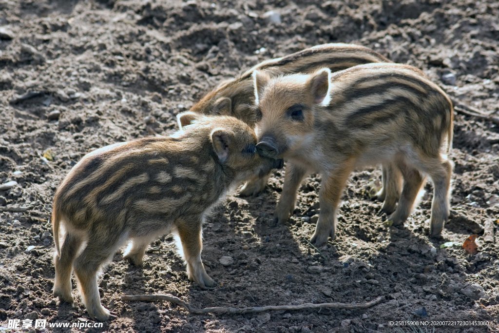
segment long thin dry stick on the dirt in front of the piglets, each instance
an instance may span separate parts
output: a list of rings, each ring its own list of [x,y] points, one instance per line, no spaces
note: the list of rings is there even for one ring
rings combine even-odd
[[[191,314],[202,315],[202,314],[248,314],[257,313],[264,311],[290,311],[290,310],[308,310],[308,309],[367,309],[375,306],[384,299],[384,296],[380,296],[377,299],[360,304],[349,304],[349,303],[305,303],[300,305],[279,305],[279,306],[266,306],[266,307],[250,307],[250,308],[205,308],[196,309],[185,303],[178,297],[172,295],[125,295],[121,297],[122,301],[168,301],[170,303],[176,304],[178,306],[184,307]]]

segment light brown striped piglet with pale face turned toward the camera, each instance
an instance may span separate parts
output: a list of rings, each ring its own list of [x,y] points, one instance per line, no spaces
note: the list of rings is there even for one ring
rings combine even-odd
[[[381,163],[396,167],[404,178],[398,205],[387,209],[395,210],[388,219],[394,225],[407,219],[429,175],[434,184],[430,234],[440,235],[449,216],[453,107],[420,70],[372,63],[333,74],[324,68],[277,78],[255,71],[253,78],[261,117],[257,149],[288,161],[276,220],[288,219],[301,180],[317,172],[322,177],[320,214],[311,242],[334,239],[349,174]]]

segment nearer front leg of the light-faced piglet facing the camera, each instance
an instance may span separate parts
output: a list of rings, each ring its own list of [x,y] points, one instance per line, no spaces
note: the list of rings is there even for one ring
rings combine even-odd
[[[335,238],[336,211],[341,193],[352,170],[353,161],[349,160],[343,163],[341,168],[331,171],[328,175],[323,175],[319,192],[319,220],[310,239],[310,243],[315,246],[321,246],[327,242],[329,237],[331,240]]]

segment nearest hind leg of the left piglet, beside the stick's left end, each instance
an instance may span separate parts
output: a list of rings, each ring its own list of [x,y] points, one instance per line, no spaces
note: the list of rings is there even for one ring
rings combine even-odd
[[[74,262],[74,272],[78,278],[81,300],[90,318],[106,321],[115,318],[100,302],[97,273],[119,245],[120,235],[109,232],[106,235],[92,233],[88,244]]]

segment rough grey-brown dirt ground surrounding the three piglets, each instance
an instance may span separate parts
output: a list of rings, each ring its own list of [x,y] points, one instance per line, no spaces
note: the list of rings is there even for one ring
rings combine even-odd
[[[0,190],[1,327],[9,319],[88,321],[79,297],[70,305],[51,295],[51,202],[71,166],[107,144],[172,133],[177,113],[261,60],[357,43],[423,69],[455,100],[499,116],[497,0],[311,2],[0,2],[0,184],[17,183]],[[86,331],[393,332],[390,321],[486,321],[425,328],[499,330],[499,127],[456,114],[454,135],[452,214],[442,239],[427,236],[431,184],[404,227],[383,223],[381,204],[369,199],[380,184],[373,167],[350,177],[336,241],[314,249],[306,240],[320,179],[303,183],[289,224],[273,225],[283,181],[276,171],[264,193],[234,193],[206,224],[203,259],[214,290],[187,280],[166,236],[150,246],[143,268],[115,255],[100,287],[118,318]],[[28,210],[1,212],[5,206]],[[461,247],[471,234],[480,236],[475,255]],[[441,248],[447,242],[456,243]],[[223,256],[234,262],[223,266]],[[199,308],[384,300],[360,311],[189,315],[167,302],[120,299],[154,293]]]

